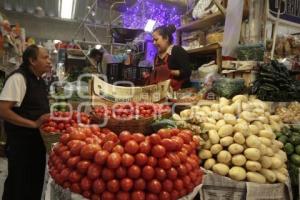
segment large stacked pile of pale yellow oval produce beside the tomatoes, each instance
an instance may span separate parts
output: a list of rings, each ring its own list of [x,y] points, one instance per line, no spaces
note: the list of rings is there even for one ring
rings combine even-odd
[[[205,169],[237,181],[287,180],[286,153],[274,134],[283,124],[278,115],[270,114],[268,104],[237,95],[211,106],[193,106],[173,118],[179,126],[200,127],[205,143],[199,156]]]

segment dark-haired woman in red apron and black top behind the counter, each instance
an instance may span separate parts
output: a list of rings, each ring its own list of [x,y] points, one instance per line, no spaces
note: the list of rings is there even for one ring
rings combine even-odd
[[[148,84],[171,79],[174,90],[189,87],[191,69],[187,52],[177,45],[173,45],[174,25],[160,26],[152,33],[153,43],[157,48],[154,59],[154,69],[150,74],[145,74]]]

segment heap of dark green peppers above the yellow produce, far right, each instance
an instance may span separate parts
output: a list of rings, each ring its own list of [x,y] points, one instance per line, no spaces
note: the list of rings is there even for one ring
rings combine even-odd
[[[287,67],[277,61],[260,66],[253,92],[264,101],[300,100],[300,88],[292,79]]]

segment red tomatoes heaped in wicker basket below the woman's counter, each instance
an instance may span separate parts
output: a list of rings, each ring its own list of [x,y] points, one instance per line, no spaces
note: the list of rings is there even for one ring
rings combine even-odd
[[[99,118],[139,119],[159,116],[171,111],[169,105],[155,103],[119,103],[112,107],[96,106],[93,109]]]

